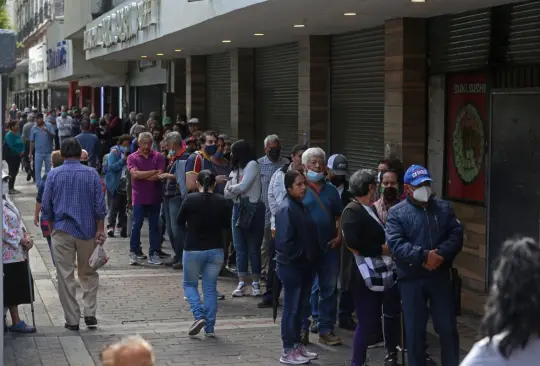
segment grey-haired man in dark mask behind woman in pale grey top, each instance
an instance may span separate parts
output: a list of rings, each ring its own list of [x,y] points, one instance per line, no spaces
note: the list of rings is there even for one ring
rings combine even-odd
[[[262,201],[264,202],[266,212],[264,216],[264,237],[261,243],[261,264],[262,272],[268,270],[268,244],[272,240],[272,230],[270,229],[270,206],[268,205],[268,186],[274,173],[289,161],[281,157],[281,143],[277,135],[269,135],[264,139],[265,156],[257,160],[261,168],[261,186]]]

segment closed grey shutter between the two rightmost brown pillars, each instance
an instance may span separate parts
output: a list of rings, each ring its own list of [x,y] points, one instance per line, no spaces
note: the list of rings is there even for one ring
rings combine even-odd
[[[384,27],[331,40],[331,153],[349,170],[376,168],[384,153]]]

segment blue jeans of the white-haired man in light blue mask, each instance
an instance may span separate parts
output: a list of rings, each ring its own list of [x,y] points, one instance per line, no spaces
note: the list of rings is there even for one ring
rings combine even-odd
[[[316,278],[311,292],[311,312],[319,323],[319,334],[334,330],[337,316],[337,279],[339,275],[339,249],[328,249],[315,267]],[[319,286],[315,286],[315,284]],[[309,328],[309,320],[304,320],[303,329]]]

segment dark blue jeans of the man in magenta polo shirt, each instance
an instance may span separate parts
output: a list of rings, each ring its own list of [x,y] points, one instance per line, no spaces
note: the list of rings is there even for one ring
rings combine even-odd
[[[131,237],[129,247],[132,253],[138,253],[141,249],[141,228],[144,217],[148,216],[148,232],[150,236],[149,256],[152,256],[161,247],[161,233],[159,232],[159,212],[161,203],[151,205],[133,205]]]

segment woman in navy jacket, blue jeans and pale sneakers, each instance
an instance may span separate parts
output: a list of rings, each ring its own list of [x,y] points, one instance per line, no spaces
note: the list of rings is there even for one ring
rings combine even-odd
[[[317,244],[315,222],[302,204],[307,190],[306,178],[298,170],[288,170],[284,184],[287,193],[275,213],[276,272],[284,293],[283,353],[279,361],[301,365],[317,358],[316,353],[307,351],[301,343],[301,330],[302,320],[310,312],[313,265],[318,262],[321,248]]]

